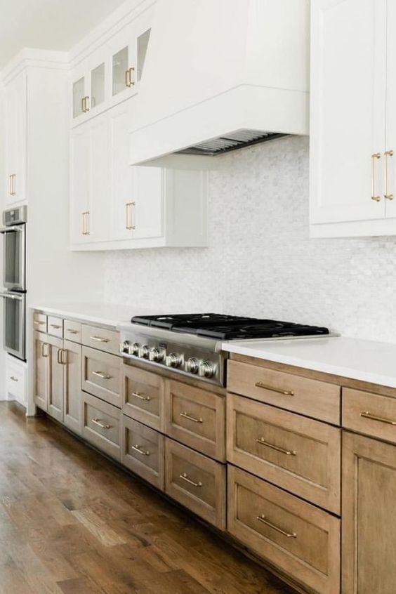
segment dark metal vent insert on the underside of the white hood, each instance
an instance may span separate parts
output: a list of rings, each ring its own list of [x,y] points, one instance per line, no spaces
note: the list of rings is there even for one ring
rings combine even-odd
[[[216,154],[265,143],[267,140],[275,140],[275,138],[282,138],[282,136],[286,135],[276,132],[260,132],[258,130],[238,130],[227,134],[227,136],[218,136],[218,138],[206,140],[204,143],[178,150],[176,154],[199,154],[214,157]]]

